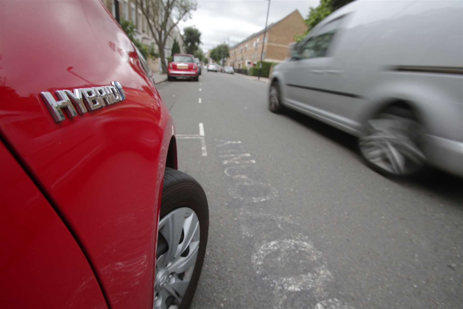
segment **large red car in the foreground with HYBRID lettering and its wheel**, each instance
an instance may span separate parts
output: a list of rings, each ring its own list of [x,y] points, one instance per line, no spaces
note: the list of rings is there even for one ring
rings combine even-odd
[[[134,45],[100,1],[0,12],[0,307],[188,307],[206,195]]]

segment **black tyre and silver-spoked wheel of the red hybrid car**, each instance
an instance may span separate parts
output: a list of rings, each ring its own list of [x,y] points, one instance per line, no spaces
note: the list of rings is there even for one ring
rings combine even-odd
[[[162,302],[165,302],[166,308],[173,305],[179,306],[180,309],[187,309],[193,300],[200,278],[209,229],[209,209],[206,194],[200,184],[193,177],[179,170],[166,168],[159,218],[154,308],[161,308]],[[182,220],[183,225],[180,225],[181,232],[179,233],[180,230],[176,229],[177,233],[175,233],[173,227],[179,227],[178,220]],[[199,230],[196,224],[199,224]],[[169,241],[166,239],[175,240],[170,242],[174,244],[179,240],[177,247],[172,248],[178,253],[169,251]],[[181,253],[182,251],[183,253]],[[174,254],[173,259],[168,257],[170,252],[174,252],[172,253]],[[194,257],[193,252],[197,252],[195,262],[192,259]],[[194,263],[194,267],[184,266],[186,260]],[[184,270],[181,269],[182,267],[189,268]],[[172,270],[178,270],[179,273],[170,272]],[[183,290],[181,285],[175,285],[188,279],[189,284],[183,286]],[[178,293],[175,296],[169,292],[169,290],[173,291],[173,287],[176,287],[174,294]]]

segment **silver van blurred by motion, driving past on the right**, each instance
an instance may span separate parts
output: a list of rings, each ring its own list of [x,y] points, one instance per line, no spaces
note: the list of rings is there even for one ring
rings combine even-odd
[[[275,66],[270,111],[288,107],[357,136],[386,175],[428,163],[463,176],[462,10],[462,1],[343,6]]]

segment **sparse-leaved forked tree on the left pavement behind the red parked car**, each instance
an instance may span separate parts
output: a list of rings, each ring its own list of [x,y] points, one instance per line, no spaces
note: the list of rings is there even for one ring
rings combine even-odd
[[[191,18],[198,6],[195,0],[138,0],[150,32],[153,34],[161,58],[163,72],[167,72],[164,47],[170,32],[178,23]]]

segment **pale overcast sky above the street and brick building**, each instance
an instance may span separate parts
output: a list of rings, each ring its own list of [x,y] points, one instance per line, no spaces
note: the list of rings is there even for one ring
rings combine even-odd
[[[271,0],[269,25],[298,9],[303,18],[309,7],[319,5],[319,0]],[[192,18],[181,21],[179,27],[196,26],[201,32],[200,46],[208,49],[229,39],[238,43],[252,33],[265,28],[267,0],[198,0],[198,9]]]

